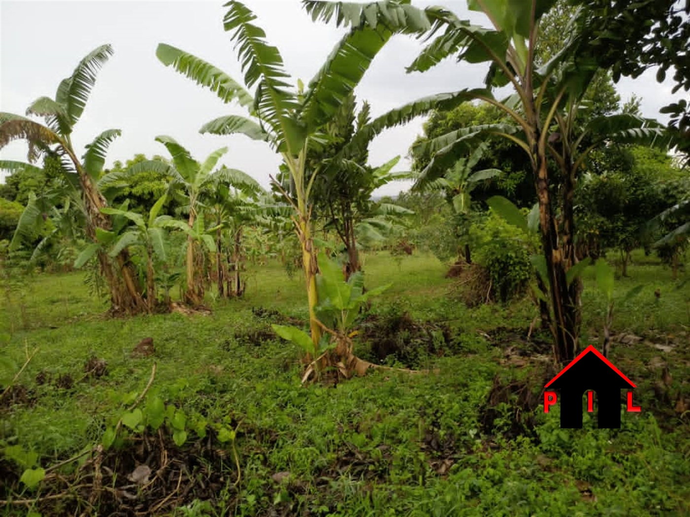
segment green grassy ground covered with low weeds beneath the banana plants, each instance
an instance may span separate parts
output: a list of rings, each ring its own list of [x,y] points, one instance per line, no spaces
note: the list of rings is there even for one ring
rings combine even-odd
[[[47,468],[101,443],[123,414],[132,416],[127,409],[154,363],[157,372],[137,406],[141,423],[121,426],[103,460],[109,499],[89,509],[78,485],[93,478],[80,479],[86,470],[73,463],[50,473],[51,488],[22,489],[23,469],[7,458],[0,499],[55,495],[59,483],[63,497],[0,502],[0,515],[690,514],[690,418],[682,407],[690,408],[688,273],[671,281],[640,253],[631,277],[616,281],[616,299],[644,285],[616,305],[612,346],[613,363],[638,385],[642,412],[624,413],[621,429],[600,430],[588,414],[584,429],[560,429],[558,406],[543,413],[540,390],[553,372],[540,356],[550,345],[548,336],[526,338],[535,316],[529,300],[469,309],[431,256],[371,254],[364,269],[368,285],[393,287],[374,301],[357,353],[433,373],[379,370],[300,387],[297,349],[271,336],[270,323],[306,319],[304,285],[279,263],[251,266],[241,300],[209,294],[210,315],[109,320],[81,273],[6,282],[0,356],[21,367],[38,349],[17,379],[24,391],[0,407],[6,456],[8,447],[33,451]],[[591,268],[584,278],[584,334],[595,343],[604,299]],[[132,358],[148,337],[155,354]],[[92,356],[107,362],[105,375],[85,377]],[[157,401],[170,405],[159,434]],[[177,430],[181,441],[182,429],[178,447],[171,435]],[[121,479],[139,464],[152,468],[152,485]]]

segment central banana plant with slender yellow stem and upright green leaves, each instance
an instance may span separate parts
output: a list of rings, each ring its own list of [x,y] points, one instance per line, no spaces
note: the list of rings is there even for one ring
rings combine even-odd
[[[255,14],[239,1],[230,1],[225,6],[228,11],[224,28],[232,32],[246,88],[256,86],[255,94],[250,94],[243,85],[210,63],[178,48],[161,43],[157,57],[165,65],[215,92],[224,102],[236,100],[248,110],[249,117],[228,115],[210,121],[201,128],[202,133],[242,133],[251,139],[268,142],[282,156],[291,183],[290,194],[284,194],[295,210],[293,222],[302,246],[311,339],[317,346],[322,329],[315,315],[317,255],[311,196],[319,167],[308,170],[309,153],[327,142],[326,123],[353,92],[393,33],[427,30],[430,24],[424,12],[393,1],[361,4],[356,7],[357,12],[348,10],[346,19],[332,12],[328,19],[335,14],[338,23],[344,21],[352,28],[335,45],[308,88],[295,90],[288,82],[290,76],[284,70],[279,50],[267,43],[264,30],[255,25]],[[395,117],[397,123],[410,118],[411,110]]]

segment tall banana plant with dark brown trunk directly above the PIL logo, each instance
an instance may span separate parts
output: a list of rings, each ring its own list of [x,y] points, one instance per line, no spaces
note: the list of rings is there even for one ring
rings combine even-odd
[[[580,35],[578,24],[582,21],[576,17],[561,52],[538,68],[535,48],[539,22],[554,3],[469,0],[469,8],[484,12],[493,28],[457,19],[442,8],[430,8],[427,14],[433,19],[429,34],[433,41],[408,67],[408,72],[424,72],[453,54],[457,54],[459,61],[489,63],[486,88],[463,90],[459,95],[467,101],[494,105],[513,123],[456,130],[422,143],[415,152],[434,155],[423,175],[444,170],[458,150],[466,149],[468,141],[479,136],[502,136],[529,155],[550,286],[549,328],[555,343],[555,360],[567,363],[577,353],[581,321],[582,284],[566,279],[567,272],[577,263],[573,194],[578,171],[591,150],[609,141],[666,144],[658,123],[632,115],[591,117],[584,128],[578,125],[582,97],[598,67],[591,56],[574,51]],[[513,94],[497,99],[493,88],[505,85],[511,87]],[[550,160],[558,165],[560,177],[549,173]]]

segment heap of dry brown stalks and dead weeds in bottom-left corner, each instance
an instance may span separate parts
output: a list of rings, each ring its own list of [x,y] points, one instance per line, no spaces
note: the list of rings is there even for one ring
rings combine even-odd
[[[198,440],[177,447],[171,436],[141,434],[121,447],[102,452],[97,449],[72,472],[47,474],[37,500],[8,498],[0,485],[0,498],[14,508],[30,506],[42,515],[169,514],[193,500],[206,500],[216,506],[237,496],[233,482],[237,472],[225,449],[211,445],[214,440]],[[0,462],[4,480],[18,480],[19,472]]]

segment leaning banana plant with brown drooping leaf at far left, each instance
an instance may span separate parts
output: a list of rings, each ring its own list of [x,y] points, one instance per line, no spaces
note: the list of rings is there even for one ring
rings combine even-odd
[[[120,130],[111,129],[99,134],[86,145],[81,159],[72,145],[72,131],[86,107],[99,69],[111,55],[110,45],[99,46],[79,62],[70,77],[61,81],[55,99],[39,97],[29,106],[26,114],[42,116],[45,124],[17,114],[0,113],[0,149],[21,139],[29,145],[28,161],[37,161],[42,155],[59,158],[61,176],[81,193],[86,235],[92,243],[97,242],[97,229],[110,230],[112,225],[108,216],[101,212],[107,203],[96,182],[103,170],[108,146],[120,135]],[[27,164],[15,162],[12,166],[26,167]],[[112,312],[134,314],[145,311],[146,305],[126,251],[115,257],[99,252],[98,259],[101,274],[110,287]]]

